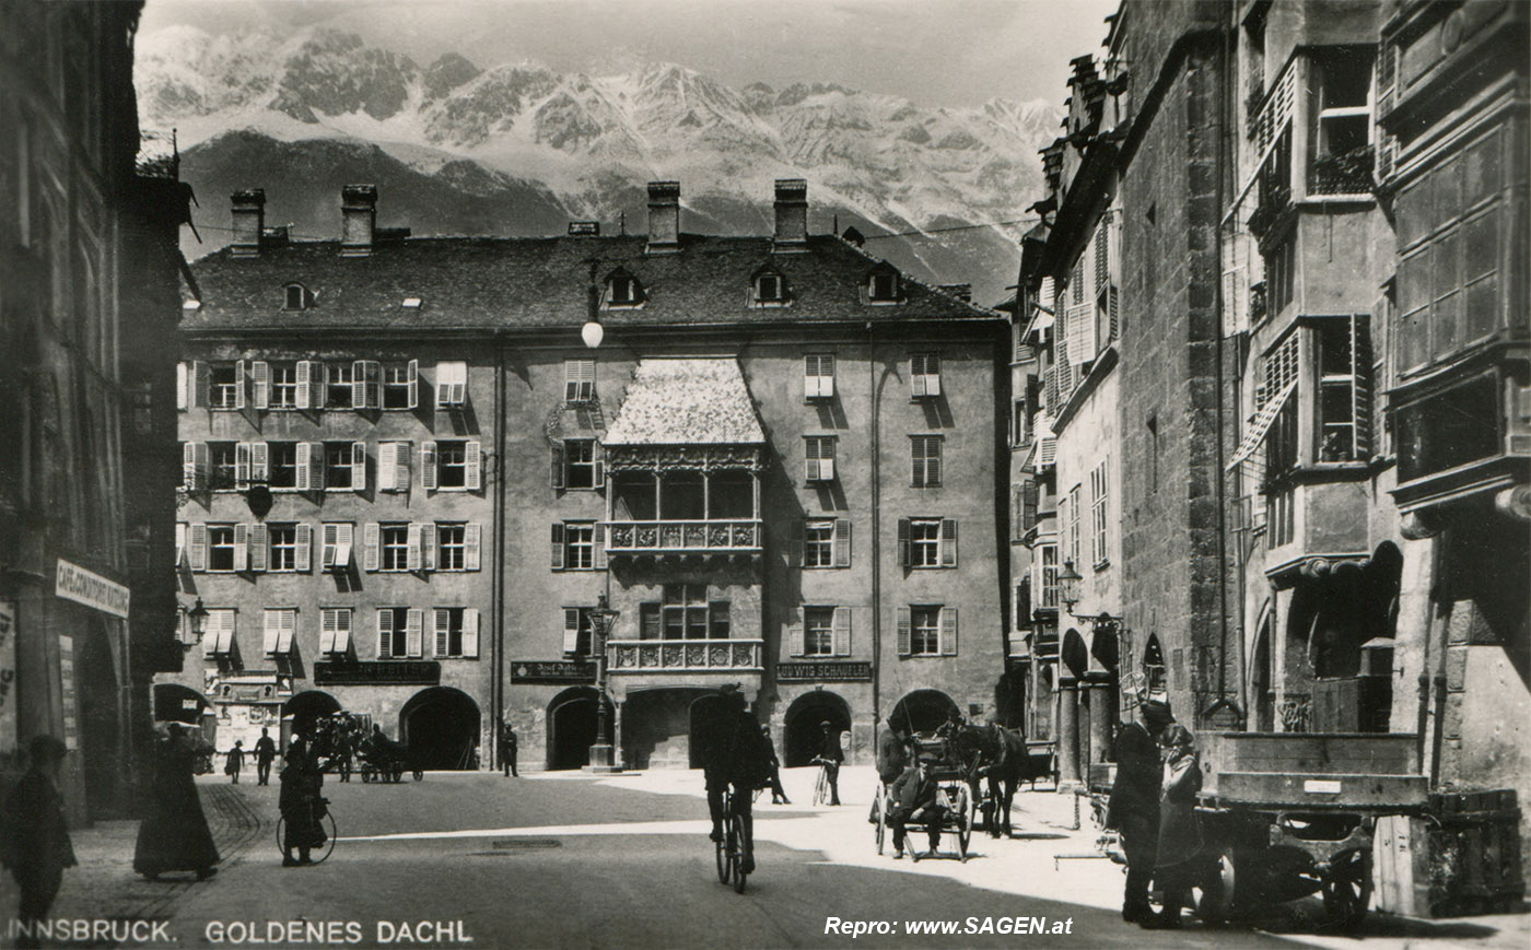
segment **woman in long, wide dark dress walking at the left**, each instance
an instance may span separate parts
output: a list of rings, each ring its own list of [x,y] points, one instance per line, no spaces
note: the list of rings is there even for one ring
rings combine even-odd
[[[133,870],[149,880],[167,870],[193,870],[202,880],[213,875],[220,860],[191,780],[194,760],[184,728],[171,724],[170,734],[155,748],[149,814],[138,826],[133,849]]]

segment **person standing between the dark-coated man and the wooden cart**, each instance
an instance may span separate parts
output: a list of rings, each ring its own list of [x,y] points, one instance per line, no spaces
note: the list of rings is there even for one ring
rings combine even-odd
[[[1174,724],[1159,737],[1164,747],[1164,783],[1159,789],[1159,854],[1154,880],[1164,893],[1164,910],[1141,924],[1150,930],[1180,927],[1180,909],[1190,904],[1202,852],[1196,823],[1196,792],[1202,789],[1196,737]]]

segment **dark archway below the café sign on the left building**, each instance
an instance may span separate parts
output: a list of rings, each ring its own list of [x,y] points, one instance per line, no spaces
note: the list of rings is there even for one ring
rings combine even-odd
[[[75,636],[77,690],[80,696],[80,759],[86,773],[86,806],[92,818],[119,812],[122,733],[118,714],[116,664],[107,621],[90,612],[83,635]]]

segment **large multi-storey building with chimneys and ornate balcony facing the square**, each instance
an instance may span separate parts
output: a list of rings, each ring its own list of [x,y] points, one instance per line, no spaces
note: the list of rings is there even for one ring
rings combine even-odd
[[[686,766],[724,682],[788,765],[824,722],[867,760],[888,714],[994,714],[1001,317],[808,234],[801,182],[770,237],[683,233],[675,182],[619,237],[412,239],[375,197],[297,242],[239,193],[193,265],[178,564],[211,615],[161,690],[219,748],[343,708],[439,768],[504,721],[573,768],[605,702],[622,762]]]

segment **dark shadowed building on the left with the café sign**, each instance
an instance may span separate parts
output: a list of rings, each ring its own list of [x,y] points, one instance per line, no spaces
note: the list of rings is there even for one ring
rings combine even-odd
[[[149,679],[179,659],[155,564],[187,197],[173,158],[136,162],[139,8],[0,6],[0,773],[63,739],[72,821],[130,808]]]

